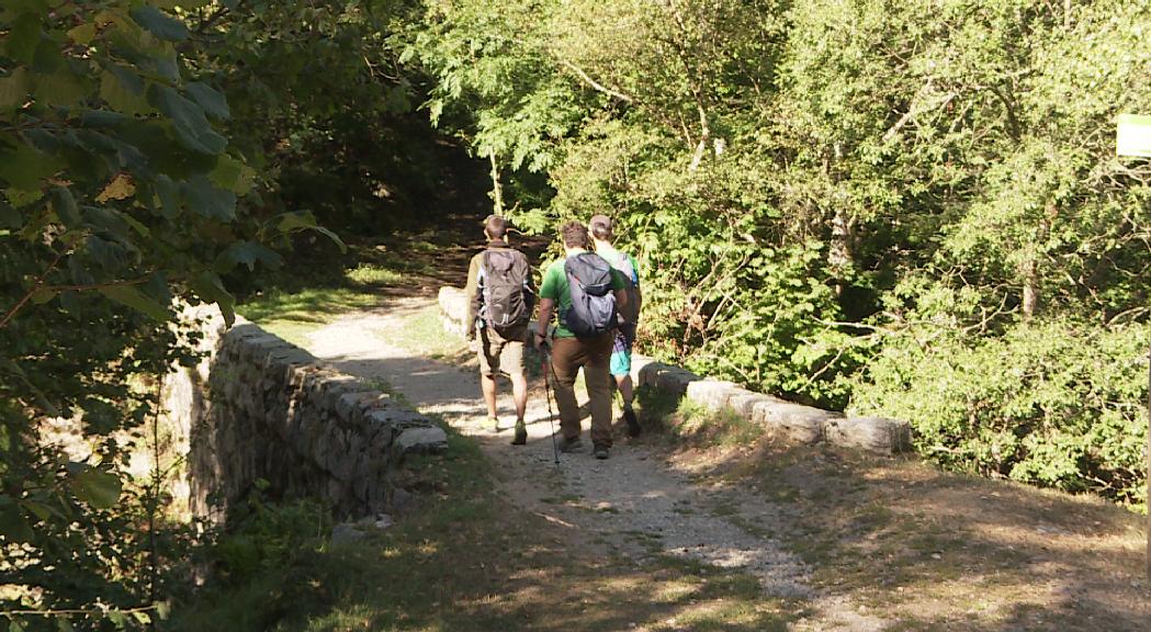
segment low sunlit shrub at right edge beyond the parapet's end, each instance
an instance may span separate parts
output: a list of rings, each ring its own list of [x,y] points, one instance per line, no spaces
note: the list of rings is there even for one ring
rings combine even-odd
[[[986,338],[918,325],[881,344],[851,410],[907,419],[946,467],[1138,507],[1148,342],[1137,325],[1052,319]]]

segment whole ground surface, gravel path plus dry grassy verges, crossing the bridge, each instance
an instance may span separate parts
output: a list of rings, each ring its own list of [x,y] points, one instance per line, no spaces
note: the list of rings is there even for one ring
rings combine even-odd
[[[348,313],[306,338],[317,357],[442,419],[458,433],[453,442],[479,446],[493,483],[478,485],[477,470],[460,470],[451,454],[439,483],[407,481],[411,518],[399,523],[425,520],[419,546],[439,551],[402,579],[427,593],[424,608],[410,603],[396,615],[338,606],[298,614],[305,629],[1151,624],[1141,523],[1106,503],[909,460],[786,447],[737,418],[676,410],[650,393],[640,401],[643,436],[617,432],[610,459],[577,452],[557,465],[539,370],[528,444],[512,447],[508,384],[501,412],[509,428],[495,433],[482,427],[474,359],[441,329],[434,299]],[[473,496],[463,497],[464,488]],[[383,556],[364,572],[386,573],[388,564]]]

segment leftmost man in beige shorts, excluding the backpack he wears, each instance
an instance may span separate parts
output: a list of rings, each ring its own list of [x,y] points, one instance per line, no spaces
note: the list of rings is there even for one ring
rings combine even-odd
[[[480,360],[480,389],[488,405],[488,426],[500,432],[500,418],[496,416],[496,376],[503,373],[511,380],[512,399],[516,403],[516,433],[512,444],[523,446],[527,442],[527,426],[524,424],[524,412],[527,409],[527,380],[524,376],[524,337],[527,334],[527,322],[497,330],[485,305],[485,285],[487,279],[485,258],[489,253],[500,253],[501,260],[511,260],[513,268],[523,272],[523,292],[531,314],[535,289],[532,282],[531,268],[524,253],[509,248],[505,241],[508,222],[500,215],[490,215],[483,222],[483,235],[488,238],[487,249],[472,257],[467,269],[467,340]],[[490,259],[487,259],[490,260]],[[490,264],[489,264],[490,265]]]

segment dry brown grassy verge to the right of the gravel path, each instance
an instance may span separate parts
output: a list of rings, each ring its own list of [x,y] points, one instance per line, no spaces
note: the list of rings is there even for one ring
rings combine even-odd
[[[816,584],[898,630],[1151,630],[1145,519],[1105,501],[770,437],[714,452],[696,475],[779,503]]]

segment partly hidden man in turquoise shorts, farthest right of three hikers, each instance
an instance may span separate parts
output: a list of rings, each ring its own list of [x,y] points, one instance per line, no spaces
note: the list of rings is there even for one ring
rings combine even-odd
[[[616,328],[616,340],[611,347],[611,360],[608,371],[616,380],[616,388],[624,399],[624,421],[627,422],[630,436],[640,435],[640,422],[632,409],[634,388],[632,386],[632,345],[635,343],[635,326],[639,322],[640,306],[643,297],[640,294],[639,267],[635,258],[616,250],[612,242],[616,238],[615,226],[607,215],[593,215],[587,224],[592,234],[595,253],[603,257],[624,275],[627,281],[627,307],[619,310],[619,326]]]

